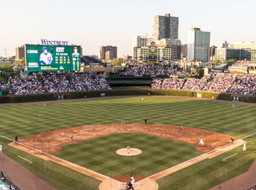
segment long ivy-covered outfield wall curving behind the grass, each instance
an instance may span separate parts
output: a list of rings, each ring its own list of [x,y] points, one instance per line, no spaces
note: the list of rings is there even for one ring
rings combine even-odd
[[[19,103],[30,101],[50,101],[57,99],[83,99],[101,96],[138,96],[138,95],[166,95],[166,96],[188,96],[204,99],[222,99],[231,101],[232,96],[239,96],[244,102],[256,103],[256,96],[217,93],[208,91],[185,91],[169,89],[112,89],[105,91],[79,91],[56,94],[30,94],[30,95],[9,95],[0,96],[0,103]],[[198,98],[198,99],[200,99]]]

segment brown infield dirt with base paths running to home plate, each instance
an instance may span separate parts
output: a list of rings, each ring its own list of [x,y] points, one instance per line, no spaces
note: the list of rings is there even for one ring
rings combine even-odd
[[[219,155],[228,150],[231,150],[232,148],[236,148],[237,146],[242,145],[243,142],[242,140],[238,140],[237,138],[233,137],[235,143],[230,145],[231,136],[229,135],[224,135],[218,132],[211,132],[208,130],[200,130],[191,127],[183,127],[183,129],[184,130],[179,130],[178,126],[173,125],[155,124],[88,125],[32,135],[30,137],[25,137],[24,139],[19,140],[19,143],[10,143],[9,145],[12,145],[15,148],[19,148],[20,150],[24,150],[32,155],[36,155],[37,157],[43,158],[45,160],[52,160],[63,166],[74,169],[75,171],[84,173],[87,176],[97,178],[98,180],[102,181],[102,184],[100,184],[99,188],[104,190],[106,189],[106,187],[108,187],[108,189],[118,189],[118,183],[120,183],[120,181],[116,180],[115,178],[110,178],[100,173],[90,171],[87,168],[77,166],[74,163],[62,160],[61,158],[56,158],[52,154],[61,151],[64,145],[79,143],[85,140],[91,140],[97,137],[103,137],[116,133],[144,133],[146,135],[164,137],[171,140],[181,141],[183,143],[193,144],[195,145],[194,148],[196,150],[206,153],[198,156],[197,158],[188,160],[184,164],[181,163],[178,166],[169,168],[165,171],[156,173],[153,176],[149,176],[147,178],[141,179],[141,181],[138,181],[141,190],[155,190],[159,188],[155,180],[167,176],[170,173],[179,171],[180,169],[187,166],[191,166],[199,162],[200,160],[204,160],[206,158],[213,158],[216,155]],[[70,140],[71,135],[73,135],[74,140]],[[202,138],[205,142],[204,146],[198,145],[200,138]]]

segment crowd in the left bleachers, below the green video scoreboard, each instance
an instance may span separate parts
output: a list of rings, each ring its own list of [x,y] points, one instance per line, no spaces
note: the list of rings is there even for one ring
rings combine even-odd
[[[9,89],[9,94],[14,95],[110,89],[105,78],[100,78],[96,73],[42,74],[24,79],[11,78],[9,83],[1,82],[0,89]]]

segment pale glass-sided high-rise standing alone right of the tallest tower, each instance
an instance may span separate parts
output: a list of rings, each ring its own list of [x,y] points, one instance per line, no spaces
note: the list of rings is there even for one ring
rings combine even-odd
[[[208,62],[210,59],[210,32],[191,28],[187,37],[187,60]]]

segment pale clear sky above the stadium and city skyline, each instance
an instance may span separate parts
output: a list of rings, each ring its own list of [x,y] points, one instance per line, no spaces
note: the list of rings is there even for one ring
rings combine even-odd
[[[132,38],[154,32],[154,16],[179,17],[179,38],[200,27],[211,32],[211,45],[255,42],[255,0],[0,0],[0,56],[41,39],[81,45],[83,55],[98,55],[101,45],[131,55]]]

